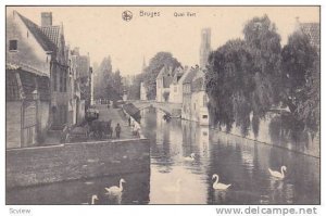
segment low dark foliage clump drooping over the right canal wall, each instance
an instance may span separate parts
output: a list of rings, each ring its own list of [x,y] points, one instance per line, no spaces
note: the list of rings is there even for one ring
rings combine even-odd
[[[272,143],[283,147],[292,144],[296,150],[304,150],[309,144],[302,123],[290,114],[276,115],[271,119],[269,136]]]

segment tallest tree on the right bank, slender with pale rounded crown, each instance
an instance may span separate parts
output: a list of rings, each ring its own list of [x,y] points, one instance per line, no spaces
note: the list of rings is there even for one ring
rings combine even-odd
[[[280,36],[267,15],[254,17],[243,28],[244,41],[253,58],[255,89],[253,115],[262,117],[279,99],[281,63]]]

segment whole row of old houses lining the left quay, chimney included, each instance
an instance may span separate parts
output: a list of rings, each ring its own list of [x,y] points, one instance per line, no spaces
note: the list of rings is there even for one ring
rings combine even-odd
[[[66,45],[63,25],[52,25],[51,12],[41,13],[40,23],[17,11],[7,14],[8,149],[60,141],[58,135],[80,124],[91,104],[89,56]]]

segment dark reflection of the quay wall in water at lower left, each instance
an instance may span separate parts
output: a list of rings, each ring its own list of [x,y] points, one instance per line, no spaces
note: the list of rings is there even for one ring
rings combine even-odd
[[[149,173],[124,175],[127,183],[123,193],[110,196],[105,187],[118,183],[120,177],[101,177],[38,187],[26,187],[7,191],[7,204],[90,204],[91,196],[99,200],[95,204],[147,204],[149,202]]]

